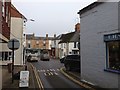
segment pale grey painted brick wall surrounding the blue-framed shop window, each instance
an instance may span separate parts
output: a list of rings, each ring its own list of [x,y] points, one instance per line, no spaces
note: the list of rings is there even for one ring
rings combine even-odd
[[[118,32],[118,3],[103,3],[83,13],[81,22],[81,78],[104,88],[117,88],[118,75],[105,72],[104,34]]]

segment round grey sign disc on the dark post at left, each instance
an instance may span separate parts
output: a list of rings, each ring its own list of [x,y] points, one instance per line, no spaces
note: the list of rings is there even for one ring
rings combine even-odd
[[[13,47],[13,44],[14,44],[14,47]],[[20,46],[20,43],[17,39],[11,39],[9,42],[8,42],[8,48],[11,49],[11,50],[17,50]]]

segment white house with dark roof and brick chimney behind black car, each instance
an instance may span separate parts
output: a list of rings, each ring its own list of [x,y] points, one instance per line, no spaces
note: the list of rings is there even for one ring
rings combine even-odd
[[[78,44],[80,42],[80,23],[75,25],[75,31],[61,34],[59,38],[59,58],[69,54],[80,54]]]

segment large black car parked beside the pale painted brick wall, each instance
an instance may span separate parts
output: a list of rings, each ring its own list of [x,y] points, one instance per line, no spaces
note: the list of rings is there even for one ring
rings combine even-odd
[[[67,55],[64,59],[64,66],[68,71],[80,71],[80,55]]]

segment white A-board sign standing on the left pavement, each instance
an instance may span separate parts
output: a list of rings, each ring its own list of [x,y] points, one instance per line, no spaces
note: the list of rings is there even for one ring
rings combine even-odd
[[[20,71],[19,87],[29,87],[29,71]]]

